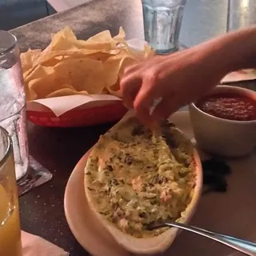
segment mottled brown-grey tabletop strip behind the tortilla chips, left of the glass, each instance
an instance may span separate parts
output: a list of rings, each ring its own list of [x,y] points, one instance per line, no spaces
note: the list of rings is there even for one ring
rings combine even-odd
[[[91,0],[10,32],[18,38],[21,51],[44,49],[50,43],[51,34],[65,26],[70,26],[79,39],[90,38],[102,30],[115,35],[119,26],[126,31],[126,38],[143,38],[142,4],[140,0]]]

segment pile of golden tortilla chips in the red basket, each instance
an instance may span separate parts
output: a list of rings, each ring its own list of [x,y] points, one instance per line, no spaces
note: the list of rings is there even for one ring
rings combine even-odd
[[[125,40],[122,27],[112,38],[102,31],[88,40],[78,40],[69,26],[52,35],[45,50],[21,54],[27,98],[73,94],[114,94],[120,97],[119,79],[126,66],[150,58],[152,50],[136,52]],[[55,96],[53,96],[55,95]]]

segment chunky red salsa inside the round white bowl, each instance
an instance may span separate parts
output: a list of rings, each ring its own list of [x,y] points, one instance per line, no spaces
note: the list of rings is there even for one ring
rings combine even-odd
[[[204,98],[198,108],[217,118],[234,121],[256,120],[256,101],[238,94],[216,94]]]

